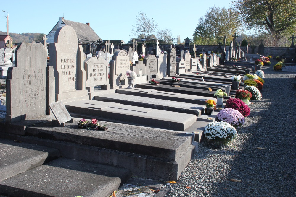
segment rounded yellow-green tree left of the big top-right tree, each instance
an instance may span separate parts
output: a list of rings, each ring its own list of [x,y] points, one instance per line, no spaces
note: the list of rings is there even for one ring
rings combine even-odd
[[[204,17],[200,17],[198,25],[193,34],[195,44],[217,44],[223,42],[226,35],[227,40],[232,40],[232,34],[242,27],[238,12],[232,8],[210,7]]]

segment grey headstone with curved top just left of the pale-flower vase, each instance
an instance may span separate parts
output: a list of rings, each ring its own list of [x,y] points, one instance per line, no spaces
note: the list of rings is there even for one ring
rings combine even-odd
[[[130,60],[125,51],[115,51],[110,61],[110,86],[111,89],[119,88],[119,82],[121,85],[126,84],[126,71],[131,68]]]

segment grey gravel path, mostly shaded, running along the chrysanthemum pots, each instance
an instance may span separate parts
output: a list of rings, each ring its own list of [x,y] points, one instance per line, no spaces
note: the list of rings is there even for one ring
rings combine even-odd
[[[238,138],[220,149],[201,143],[168,196],[296,196],[296,74],[263,71],[263,98],[249,105]]]

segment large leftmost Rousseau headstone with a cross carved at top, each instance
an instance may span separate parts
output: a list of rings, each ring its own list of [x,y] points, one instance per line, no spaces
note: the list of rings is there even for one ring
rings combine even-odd
[[[46,115],[46,57],[40,43],[17,47],[15,67],[7,71],[7,123]]]

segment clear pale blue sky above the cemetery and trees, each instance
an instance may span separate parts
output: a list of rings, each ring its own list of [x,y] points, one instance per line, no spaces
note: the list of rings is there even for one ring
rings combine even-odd
[[[103,40],[124,40],[127,43],[135,37],[131,32],[132,25],[138,12],[143,11],[158,23],[159,29],[171,29],[175,38],[180,35],[182,42],[186,37],[193,38],[198,19],[214,5],[228,8],[231,0],[3,0],[0,16],[9,13],[9,32],[48,34],[64,15],[67,20],[89,22]],[[0,17],[0,30],[6,32],[5,17]]]

